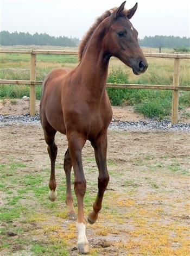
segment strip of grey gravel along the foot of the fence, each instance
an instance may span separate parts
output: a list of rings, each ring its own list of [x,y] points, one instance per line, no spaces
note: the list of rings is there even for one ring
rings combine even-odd
[[[40,125],[40,116],[36,114],[35,116],[19,115],[0,115],[0,127],[12,126],[13,124],[30,124],[30,125]],[[109,129],[112,130],[162,130],[162,131],[176,131],[176,132],[190,132],[190,123],[178,123],[172,124],[169,120],[149,120],[146,121],[116,121],[112,120]]]

